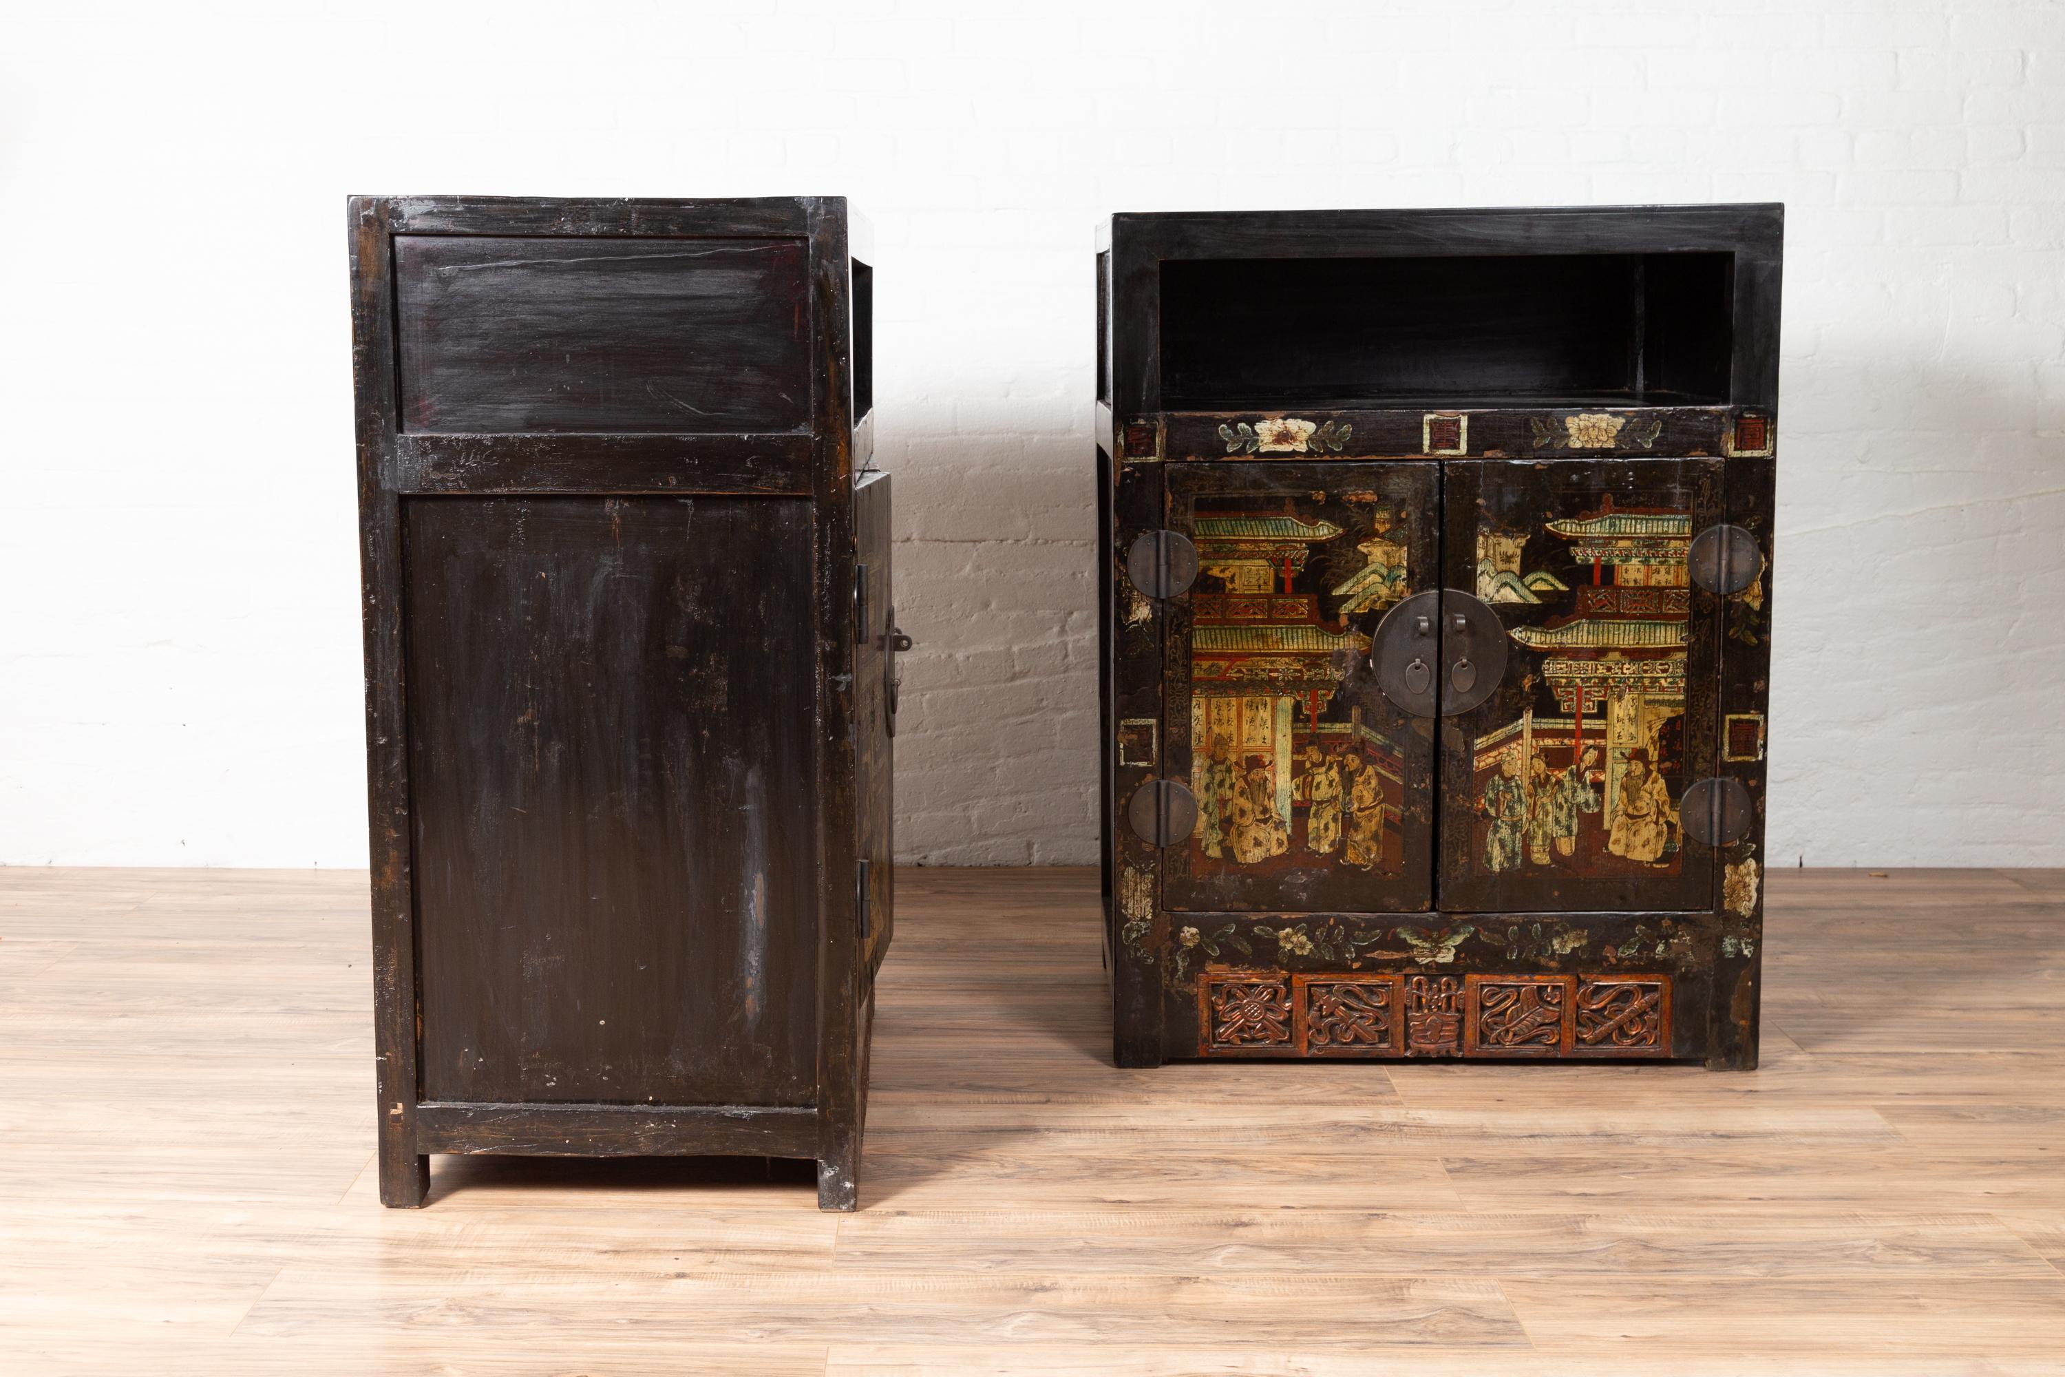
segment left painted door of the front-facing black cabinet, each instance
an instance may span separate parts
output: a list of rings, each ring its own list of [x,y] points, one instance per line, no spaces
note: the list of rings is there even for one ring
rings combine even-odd
[[[1165,617],[1165,774],[1198,822],[1165,908],[1429,908],[1431,725],[1377,692],[1369,638],[1435,586],[1437,502],[1433,462],[1169,467],[1198,578]]]

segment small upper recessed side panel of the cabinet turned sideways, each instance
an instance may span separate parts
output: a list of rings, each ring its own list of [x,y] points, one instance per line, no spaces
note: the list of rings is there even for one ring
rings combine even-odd
[[[399,235],[411,431],[781,431],[809,421],[803,239]]]

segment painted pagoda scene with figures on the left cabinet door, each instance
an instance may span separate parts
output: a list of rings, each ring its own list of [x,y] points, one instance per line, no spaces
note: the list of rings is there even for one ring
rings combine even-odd
[[[1270,502],[1194,520],[1192,873],[1394,873],[1404,762],[1338,690],[1369,654],[1365,613],[1410,593],[1406,545],[1373,493]]]

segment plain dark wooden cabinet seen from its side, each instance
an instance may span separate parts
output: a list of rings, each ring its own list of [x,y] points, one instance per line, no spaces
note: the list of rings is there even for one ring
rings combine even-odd
[[[427,1154],[859,1177],[890,481],[838,198],[349,204],[380,1197]]]

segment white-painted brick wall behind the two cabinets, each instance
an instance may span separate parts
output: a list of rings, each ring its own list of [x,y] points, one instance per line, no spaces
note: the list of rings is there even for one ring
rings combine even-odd
[[[347,192],[845,192],[909,859],[1094,855],[1090,225],[1788,202],[1772,859],[2065,865],[2065,6],[64,4],[0,41],[0,859],[363,863]]]

